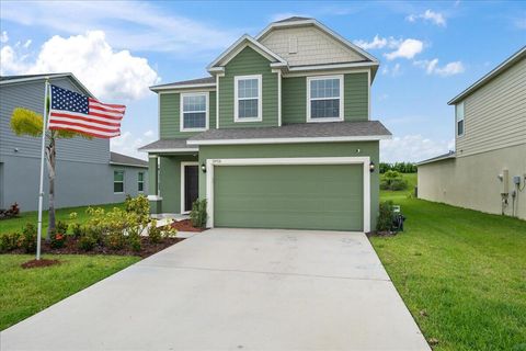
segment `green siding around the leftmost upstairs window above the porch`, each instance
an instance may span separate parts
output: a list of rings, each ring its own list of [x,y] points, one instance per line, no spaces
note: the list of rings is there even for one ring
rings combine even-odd
[[[208,128],[216,127],[216,92],[184,90],[187,92],[208,92]],[[181,132],[181,92],[159,93],[159,117],[161,139],[188,138],[202,132]]]

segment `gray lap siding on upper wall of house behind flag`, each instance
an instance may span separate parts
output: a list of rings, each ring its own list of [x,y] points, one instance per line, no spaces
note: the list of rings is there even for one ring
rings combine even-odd
[[[49,79],[52,84],[83,93],[69,78]],[[44,80],[0,86],[0,157],[41,157],[41,138],[16,136],[10,126],[15,107],[25,107],[39,114],[44,107]],[[16,150],[16,151],[15,151]],[[110,140],[82,137],[57,140],[57,160],[91,163],[110,162]]]

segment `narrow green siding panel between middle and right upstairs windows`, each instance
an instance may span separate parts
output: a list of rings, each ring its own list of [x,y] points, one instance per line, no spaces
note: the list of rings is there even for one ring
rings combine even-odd
[[[307,121],[307,79],[305,77],[282,79],[283,124]]]

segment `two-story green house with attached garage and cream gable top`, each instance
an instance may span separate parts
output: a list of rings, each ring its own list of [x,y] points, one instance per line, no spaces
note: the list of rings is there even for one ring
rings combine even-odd
[[[187,213],[199,197],[209,227],[375,229],[374,168],[391,136],[370,121],[378,65],[318,21],[290,18],[241,36],[211,77],[151,87],[160,139],[140,150],[152,208]]]

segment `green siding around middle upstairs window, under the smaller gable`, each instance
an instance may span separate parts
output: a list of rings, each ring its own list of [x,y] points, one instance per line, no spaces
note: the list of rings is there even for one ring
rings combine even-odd
[[[233,77],[262,75],[263,121],[233,122]],[[250,47],[243,48],[225,67],[219,78],[219,128],[277,126],[277,73],[271,71],[270,61]]]

